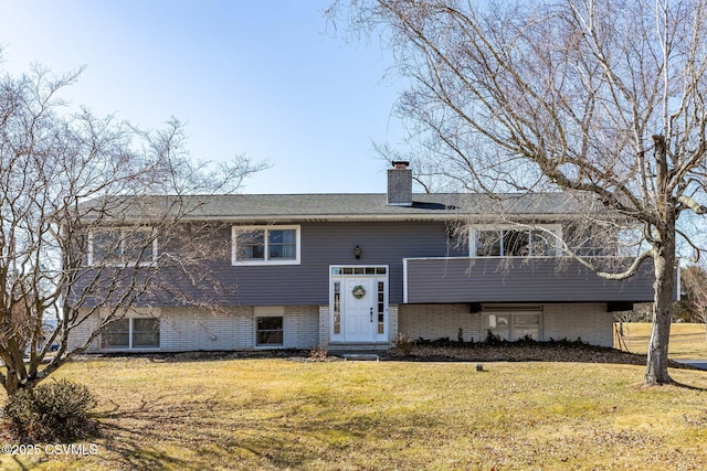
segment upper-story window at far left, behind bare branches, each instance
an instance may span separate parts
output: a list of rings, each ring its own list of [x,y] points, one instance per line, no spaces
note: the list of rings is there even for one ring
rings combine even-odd
[[[151,227],[106,227],[91,233],[89,265],[149,265],[157,257],[157,235]]]

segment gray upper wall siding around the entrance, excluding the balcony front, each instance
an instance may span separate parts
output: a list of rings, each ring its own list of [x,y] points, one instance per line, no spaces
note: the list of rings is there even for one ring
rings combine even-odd
[[[213,236],[214,247],[222,248],[213,250],[213,260],[191,268],[199,270],[193,277],[165,269],[158,275],[154,289],[136,306],[327,306],[331,265],[388,265],[390,302],[400,303],[403,258],[466,255],[461,251],[466,248],[455,248],[456,242],[447,238],[444,222],[317,222],[297,225],[300,227],[298,265],[233,266],[231,225],[224,224]],[[359,259],[354,254],[356,246],[362,250]],[[179,253],[173,243],[160,245],[159,249]],[[198,280],[197,286],[191,285],[192,279]],[[102,302],[98,298],[95,302]]]

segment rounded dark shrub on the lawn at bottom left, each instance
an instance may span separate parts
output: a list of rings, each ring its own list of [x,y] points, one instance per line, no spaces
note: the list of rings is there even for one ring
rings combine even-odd
[[[20,390],[8,400],[4,416],[20,441],[72,441],[97,430],[95,406],[86,386],[60,379]]]

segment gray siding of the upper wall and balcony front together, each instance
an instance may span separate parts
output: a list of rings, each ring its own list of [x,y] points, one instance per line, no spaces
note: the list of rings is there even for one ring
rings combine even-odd
[[[291,223],[288,223],[291,224]],[[566,302],[650,301],[652,278],[641,275],[623,282],[605,282],[576,265],[557,271],[555,260],[514,263],[499,269],[500,260],[465,259],[468,247],[450,238],[444,222],[312,222],[300,227],[298,265],[233,266],[231,225],[214,235],[223,247],[205,269],[198,287],[184,277],[162,279],[145,304],[179,307],[201,301],[224,307],[328,306],[330,266],[389,266],[389,302],[403,300],[403,259],[409,260],[408,302]],[[274,225],[273,227],[276,227]],[[362,255],[355,257],[359,246]],[[160,247],[163,249],[165,247]],[[175,250],[178,249],[175,247]],[[648,266],[650,264],[644,264]],[[191,302],[177,301],[175,291]],[[207,293],[208,298],[204,297]],[[140,306],[138,302],[137,306]]]

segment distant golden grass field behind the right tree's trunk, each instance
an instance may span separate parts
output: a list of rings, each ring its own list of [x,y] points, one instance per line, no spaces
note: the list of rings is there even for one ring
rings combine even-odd
[[[672,360],[707,358],[705,324],[673,324],[668,356]],[[651,324],[626,322],[623,324],[623,345],[632,353],[645,354],[651,336]],[[616,347],[620,344],[616,342]]]

